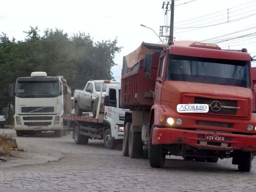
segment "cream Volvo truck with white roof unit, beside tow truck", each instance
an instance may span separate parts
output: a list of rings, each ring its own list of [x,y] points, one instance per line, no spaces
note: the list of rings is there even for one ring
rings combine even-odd
[[[70,103],[71,106],[71,94],[70,101],[65,101],[63,95],[67,92],[63,76],[47,77],[45,72],[32,72],[30,77],[18,77],[15,90],[12,84],[9,87],[9,95],[15,96],[14,128],[17,136],[54,131],[60,137],[64,104]]]

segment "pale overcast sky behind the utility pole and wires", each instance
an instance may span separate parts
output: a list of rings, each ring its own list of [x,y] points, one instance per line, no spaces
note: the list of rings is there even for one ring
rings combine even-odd
[[[170,26],[170,11],[166,12],[166,5],[162,9],[163,0],[0,0],[0,5],[0,32],[16,41],[26,38],[23,31],[29,31],[30,26],[38,27],[40,35],[47,28],[57,28],[69,37],[85,32],[94,42],[117,38],[117,46],[123,47],[114,59],[118,65],[112,68],[118,81],[123,56],[143,41],[160,43],[160,26]],[[222,49],[246,48],[253,57],[255,21],[256,0],[175,0],[176,41],[213,42]],[[169,31],[166,34],[163,29],[163,35],[168,35]],[[164,37],[161,39],[165,41]]]

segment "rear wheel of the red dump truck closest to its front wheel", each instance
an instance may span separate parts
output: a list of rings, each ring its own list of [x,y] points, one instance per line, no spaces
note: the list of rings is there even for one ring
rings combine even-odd
[[[141,132],[134,132],[132,124],[129,133],[129,156],[130,158],[140,158],[142,154]]]

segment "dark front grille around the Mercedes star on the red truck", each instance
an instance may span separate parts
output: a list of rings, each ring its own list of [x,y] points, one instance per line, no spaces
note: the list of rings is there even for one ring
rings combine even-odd
[[[235,100],[221,100],[221,99],[209,99],[209,98],[200,98],[195,97],[195,103],[197,104],[208,104],[211,105],[213,101],[218,101],[221,103],[222,106],[229,106],[229,107],[237,107],[237,101]],[[214,114],[224,114],[224,115],[236,115],[237,109],[230,109],[230,108],[221,108],[218,112],[215,112],[209,107],[209,111],[207,113],[214,113]]]

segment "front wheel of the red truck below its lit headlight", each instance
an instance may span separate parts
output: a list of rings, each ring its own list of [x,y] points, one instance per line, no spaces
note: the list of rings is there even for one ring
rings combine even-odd
[[[153,124],[150,131],[150,146],[149,146],[149,159],[150,159],[150,166],[162,168],[165,164],[165,157],[166,154],[163,153],[163,146],[162,145],[153,145],[152,144],[152,137],[153,137],[153,130],[155,125]]]

